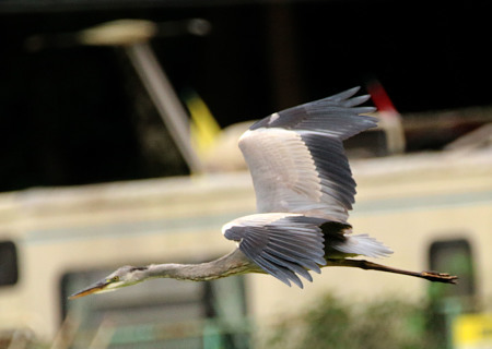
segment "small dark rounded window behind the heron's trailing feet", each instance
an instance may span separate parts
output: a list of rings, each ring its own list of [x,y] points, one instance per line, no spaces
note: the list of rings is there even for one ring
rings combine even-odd
[[[431,285],[431,297],[470,297],[475,294],[475,270],[471,246],[465,239],[435,241],[430,249],[432,270],[443,270],[459,277],[459,282]]]

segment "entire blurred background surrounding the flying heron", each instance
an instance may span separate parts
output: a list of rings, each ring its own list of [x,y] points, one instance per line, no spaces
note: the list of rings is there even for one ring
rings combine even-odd
[[[0,348],[492,348],[485,1],[0,1]],[[383,263],[68,301],[125,264],[202,262],[255,212],[237,137],[362,86],[350,222]],[[388,325],[390,324],[390,325]]]

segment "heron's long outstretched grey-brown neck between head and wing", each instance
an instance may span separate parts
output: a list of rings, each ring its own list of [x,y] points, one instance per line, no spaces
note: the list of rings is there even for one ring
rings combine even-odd
[[[148,277],[166,277],[179,280],[207,281],[235,274],[258,272],[238,249],[201,264],[152,264],[148,266]]]

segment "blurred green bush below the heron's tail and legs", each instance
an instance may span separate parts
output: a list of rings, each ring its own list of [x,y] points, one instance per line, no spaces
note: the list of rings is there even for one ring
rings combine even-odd
[[[304,313],[274,326],[263,347],[443,348],[441,337],[429,329],[427,318],[426,304],[397,299],[349,304],[348,300],[326,296]]]

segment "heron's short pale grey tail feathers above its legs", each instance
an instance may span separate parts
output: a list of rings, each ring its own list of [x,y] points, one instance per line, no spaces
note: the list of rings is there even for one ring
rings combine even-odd
[[[331,246],[349,254],[362,254],[368,257],[386,257],[393,251],[368,234],[344,236],[344,241],[336,242]]]

